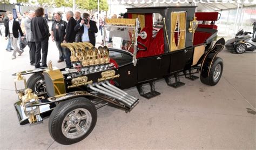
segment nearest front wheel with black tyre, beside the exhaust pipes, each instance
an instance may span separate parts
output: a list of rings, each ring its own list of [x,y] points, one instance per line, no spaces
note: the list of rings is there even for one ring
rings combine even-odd
[[[80,97],[63,101],[49,119],[51,137],[59,144],[70,145],[86,138],[97,122],[97,110],[90,100]]]

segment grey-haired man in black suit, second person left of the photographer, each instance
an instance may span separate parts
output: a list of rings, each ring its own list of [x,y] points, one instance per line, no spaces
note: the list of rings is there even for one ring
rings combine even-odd
[[[76,32],[75,32],[75,26],[76,26],[76,20],[73,18],[74,13],[72,11],[68,11],[66,13],[66,19],[68,20],[68,24],[66,25],[66,35],[64,37],[63,43],[73,43],[75,42],[75,37],[76,37]],[[66,61],[66,66],[70,67],[71,62],[70,62],[70,56],[71,52],[67,48],[66,49],[66,56],[65,56],[65,61]]]

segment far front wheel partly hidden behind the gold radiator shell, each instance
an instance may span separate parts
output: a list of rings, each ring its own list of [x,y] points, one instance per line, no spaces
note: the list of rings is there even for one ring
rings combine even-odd
[[[35,94],[39,94],[45,91],[45,81],[43,74],[34,73],[27,81],[27,86],[30,88]]]

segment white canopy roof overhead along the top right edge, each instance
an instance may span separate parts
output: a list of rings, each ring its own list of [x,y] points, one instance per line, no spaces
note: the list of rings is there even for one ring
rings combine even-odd
[[[198,6],[197,11],[220,11],[235,9],[241,4],[244,7],[256,6],[255,0],[117,0],[121,4],[129,4],[132,7],[150,6]]]

